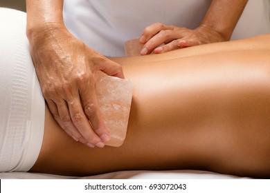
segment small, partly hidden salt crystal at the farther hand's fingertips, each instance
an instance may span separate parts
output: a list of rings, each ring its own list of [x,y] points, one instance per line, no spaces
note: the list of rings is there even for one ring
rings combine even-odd
[[[139,39],[130,39],[125,42],[125,54],[127,57],[137,57],[141,55],[141,49],[143,44],[140,43]]]

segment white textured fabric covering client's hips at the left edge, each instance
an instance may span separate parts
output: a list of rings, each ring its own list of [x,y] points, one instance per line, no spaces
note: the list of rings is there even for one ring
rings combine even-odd
[[[28,171],[39,155],[45,104],[26,38],[26,13],[0,8],[0,172]]]

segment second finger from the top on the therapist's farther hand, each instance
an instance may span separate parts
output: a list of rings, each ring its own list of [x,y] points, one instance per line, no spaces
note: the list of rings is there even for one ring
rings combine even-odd
[[[150,54],[154,49],[163,43],[168,43],[174,39],[179,39],[179,33],[174,30],[161,30],[158,34],[154,35],[141,50],[141,55]]]

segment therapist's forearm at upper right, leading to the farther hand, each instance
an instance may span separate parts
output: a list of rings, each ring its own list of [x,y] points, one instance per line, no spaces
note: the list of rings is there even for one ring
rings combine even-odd
[[[240,19],[247,0],[213,0],[200,26],[214,30],[225,40]]]

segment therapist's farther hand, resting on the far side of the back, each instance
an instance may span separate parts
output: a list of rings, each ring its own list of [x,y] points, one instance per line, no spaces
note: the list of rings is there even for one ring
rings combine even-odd
[[[161,54],[164,52],[186,48],[204,43],[227,41],[222,34],[207,26],[199,26],[195,30],[167,26],[163,23],[154,23],[143,30],[140,43],[145,44],[141,55],[152,52]]]

